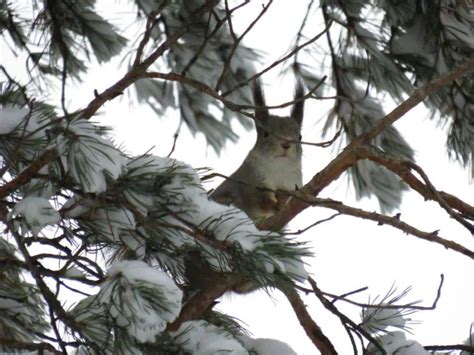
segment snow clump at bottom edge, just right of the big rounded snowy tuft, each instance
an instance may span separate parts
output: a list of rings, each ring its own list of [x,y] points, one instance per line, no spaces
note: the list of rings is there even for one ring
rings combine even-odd
[[[184,322],[176,332],[170,332],[182,350],[194,355],[248,355],[247,350],[230,333],[203,320]]]

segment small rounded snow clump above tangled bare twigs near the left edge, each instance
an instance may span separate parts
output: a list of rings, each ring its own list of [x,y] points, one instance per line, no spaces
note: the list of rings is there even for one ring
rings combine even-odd
[[[47,226],[56,224],[61,217],[50,202],[43,197],[26,196],[13,207],[13,215],[21,215],[27,227],[38,235]]]

